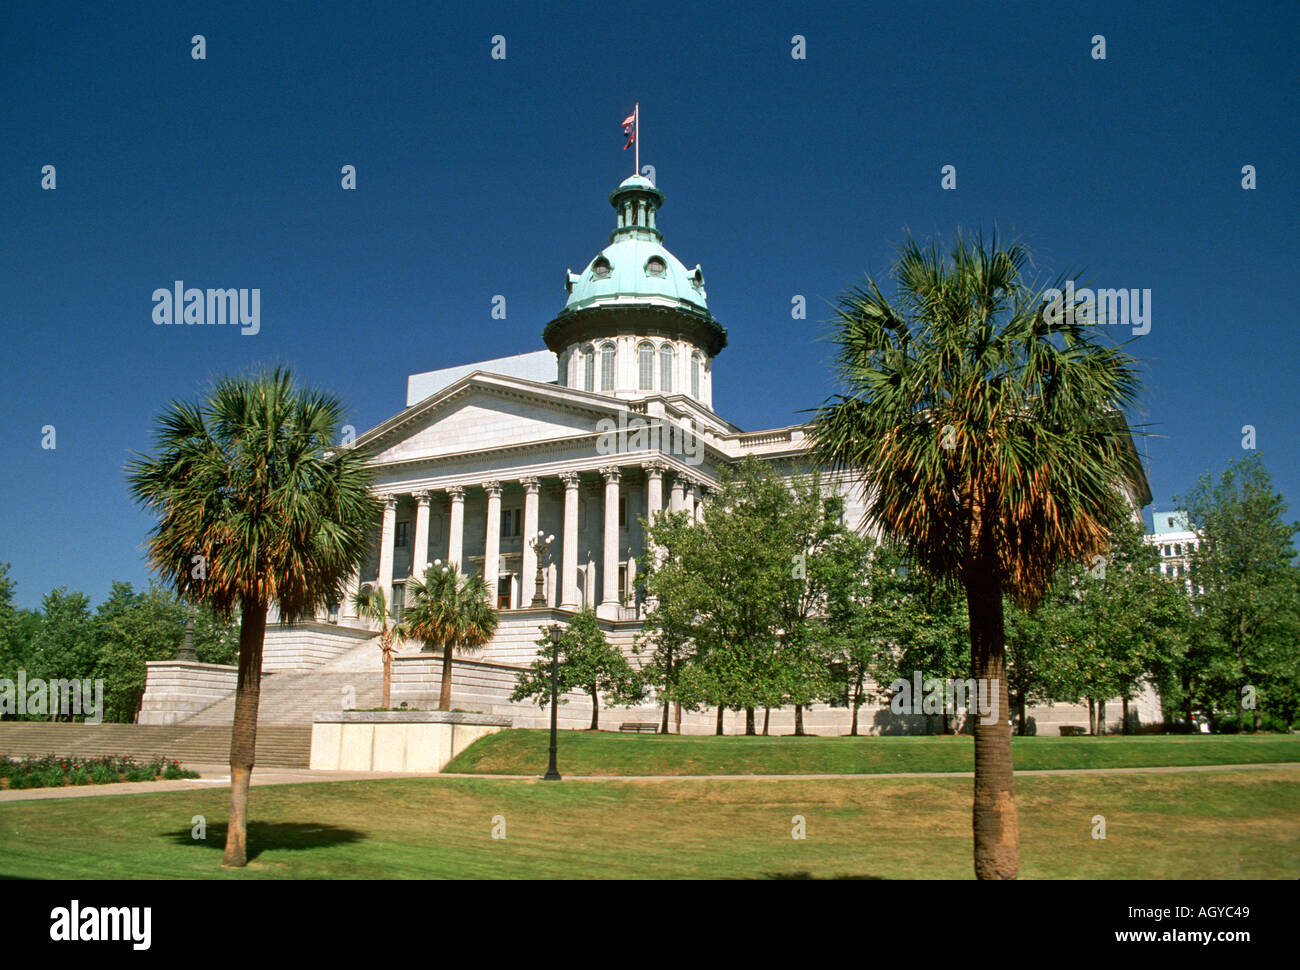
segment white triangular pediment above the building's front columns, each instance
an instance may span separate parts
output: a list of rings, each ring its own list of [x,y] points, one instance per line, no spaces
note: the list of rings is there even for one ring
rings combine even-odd
[[[555,385],[477,372],[407,408],[356,445],[372,463],[472,455],[590,434],[620,402]]]

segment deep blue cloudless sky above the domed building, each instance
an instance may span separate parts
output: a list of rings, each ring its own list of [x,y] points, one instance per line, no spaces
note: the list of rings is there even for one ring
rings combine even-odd
[[[1240,456],[1244,424],[1295,503],[1295,3],[481,7],[0,8],[0,562],[20,605],[147,580],[122,464],[169,398],[286,363],[364,429],[408,373],[542,348],[564,270],[612,228],[634,100],[666,244],[703,265],[731,333],[714,404],[736,424],[826,398],[827,304],[884,273],[905,228],[996,226],[1044,276],[1152,290],[1134,420],[1161,436],[1157,507]],[[261,333],[155,326],[174,280],[260,287]]]

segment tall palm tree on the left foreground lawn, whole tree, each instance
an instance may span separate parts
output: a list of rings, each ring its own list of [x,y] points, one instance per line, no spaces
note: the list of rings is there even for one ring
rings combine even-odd
[[[156,455],[126,465],[133,498],[157,516],[150,564],[187,602],[239,612],[224,866],[247,862],[268,610],[292,623],[337,603],[378,514],[361,456],[335,447],[342,419],[337,398],[287,371],[228,377],[202,403],[168,404]]]

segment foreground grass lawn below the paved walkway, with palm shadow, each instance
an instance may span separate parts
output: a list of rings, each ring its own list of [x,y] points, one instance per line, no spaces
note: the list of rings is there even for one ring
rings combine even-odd
[[[38,879],[971,876],[967,779],[393,779],[0,804],[0,874]],[[1017,780],[1022,876],[1295,879],[1300,767]],[[1105,815],[1106,839],[1091,837]],[[194,815],[207,839],[191,837]],[[494,817],[506,837],[491,837]],[[792,818],[807,837],[790,837]]]

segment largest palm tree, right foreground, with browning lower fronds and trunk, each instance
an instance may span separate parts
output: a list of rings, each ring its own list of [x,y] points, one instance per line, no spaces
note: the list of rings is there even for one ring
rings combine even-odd
[[[972,676],[998,705],[975,727],[980,879],[1019,869],[1002,593],[1032,605],[1058,564],[1104,551],[1141,481],[1122,416],[1134,358],[1072,312],[1044,315],[1028,259],[996,237],[958,234],[946,256],[905,241],[893,302],[868,280],[837,306],[846,393],[812,432],[814,454],[858,477],[867,521],[965,590]]]

